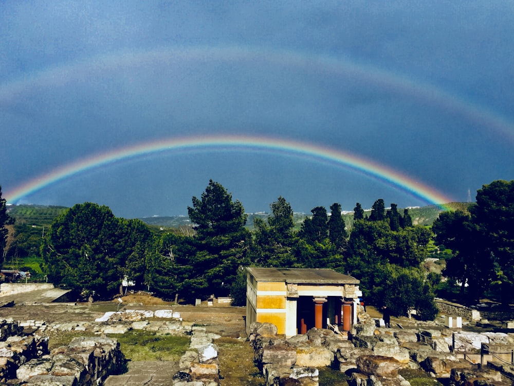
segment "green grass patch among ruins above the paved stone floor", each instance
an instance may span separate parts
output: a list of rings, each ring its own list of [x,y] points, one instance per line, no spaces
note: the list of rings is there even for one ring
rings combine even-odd
[[[178,361],[189,348],[189,337],[182,335],[158,335],[154,331],[131,330],[125,334],[109,334],[118,339],[121,351],[133,361]]]

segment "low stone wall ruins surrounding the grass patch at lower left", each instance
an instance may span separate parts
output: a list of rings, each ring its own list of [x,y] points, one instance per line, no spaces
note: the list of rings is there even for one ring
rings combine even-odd
[[[180,359],[173,384],[219,385],[218,348],[213,340],[220,336],[207,333],[205,327],[183,324],[180,315],[170,310],[106,312],[95,322],[0,321],[0,384],[102,384],[109,375],[121,374],[126,368],[119,343],[105,334],[124,334],[131,329],[190,334],[190,348]],[[50,353],[48,338],[40,337],[45,331],[84,331],[95,336],[75,338]]]

